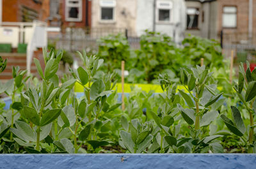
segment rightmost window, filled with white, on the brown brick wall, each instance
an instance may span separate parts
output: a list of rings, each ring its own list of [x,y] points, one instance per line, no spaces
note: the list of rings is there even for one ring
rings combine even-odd
[[[222,27],[236,27],[237,9],[236,6],[224,6],[222,14]]]

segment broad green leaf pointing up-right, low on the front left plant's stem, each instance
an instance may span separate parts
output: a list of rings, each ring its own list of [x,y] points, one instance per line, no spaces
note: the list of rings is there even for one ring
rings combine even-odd
[[[50,122],[54,121],[61,114],[61,109],[52,109],[48,110],[42,115],[42,119],[40,121],[40,126],[45,126]]]

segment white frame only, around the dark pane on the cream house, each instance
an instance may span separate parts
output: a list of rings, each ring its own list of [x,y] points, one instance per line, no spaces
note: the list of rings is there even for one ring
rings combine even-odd
[[[111,2],[111,3],[110,3]],[[113,19],[102,19],[102,8],[113,8]],[[100,22],[103,23],[113,23],[116,18],[116,0],[100,0]]]

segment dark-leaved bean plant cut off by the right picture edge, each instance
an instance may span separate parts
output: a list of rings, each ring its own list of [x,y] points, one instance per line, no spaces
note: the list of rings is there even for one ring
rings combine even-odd
[[[232,133],[240,136],[241,139],[248,146],[248,153],[255,151],[255,138],[254,138],[254,118],[255,114],[255,96],[256,96],[256,70],[250,71],[250,63],[247,62],[247,69],[244,71],[243,63],[239,66],[239,79],[238,84],[234,85],[234,89],[237,96],[243,103],[243,108],[246,113],[250,115],[250,124],[247,128],[244,125],[241,112],[238,108],[232,106],[232,119],[224,114],[221,115],[221,119],[225,122],[226,126]]]

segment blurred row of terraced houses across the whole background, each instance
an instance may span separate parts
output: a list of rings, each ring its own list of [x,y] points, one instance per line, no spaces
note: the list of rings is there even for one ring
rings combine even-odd
[[[38,48],[93,50],[100,37],[118,33],[138,48],[147,29],[179,45],[188,34],[215,39],[223,54],[235,49],[243,61],[254,54],[254,21],[256,0],[0,0],[0,52],[23,55],[30,69]]]

